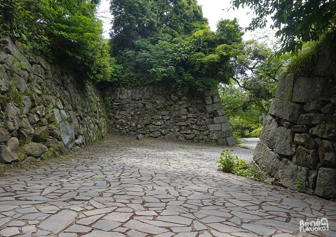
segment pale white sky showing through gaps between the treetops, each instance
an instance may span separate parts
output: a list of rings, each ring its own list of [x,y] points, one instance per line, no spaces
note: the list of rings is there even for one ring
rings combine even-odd
[[[245,28],[247,27],[253,17],[253,14],[250,13],[247,15],[248,12],[250,12],[250,8],[239,8],[238,10],[229,10],[228,8],[231,7],[230,4],[231,0],[198,0],[198,4],[202,6],[203,15],[208,18],[209,25],[212,31],[216,30],[216,24],[217,22],[223,18],[223,19],[233,19],[237,18],[239,20],[239,24],[241,27]],[[109,31],[111,29],[111,14],[109,12],[109,6],[110,6],[110,0],[101,0],[100,6],[99,6],[99,16],[103,16],[103,18],[100,17],[100,19],[104,22],[104,37],[109,38]],[[222,10],[224,9],[224,10]],[[270,33],[269,28],[265,28],[264,30],[258,30],[257,33],[255,32],[246,32],[243,39],[244,40],[250,40],[252,39],[252,35],[254,34],[264,34],[264,32],[267,31],[267,34],[273,35],[274,33]]]

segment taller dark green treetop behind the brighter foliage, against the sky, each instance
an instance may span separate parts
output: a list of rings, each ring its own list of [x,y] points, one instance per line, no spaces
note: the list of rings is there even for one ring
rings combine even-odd
[[[111,0],[112,52],[136,49],[136,40],[155,44],[205,28],[196,0]]]

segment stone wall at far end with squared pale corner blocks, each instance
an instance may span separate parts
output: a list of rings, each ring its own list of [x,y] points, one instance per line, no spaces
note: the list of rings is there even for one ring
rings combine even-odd
[[[113,133],[170,140],[236,144],[218,91],[174,95],[166,86],[105,89]]]

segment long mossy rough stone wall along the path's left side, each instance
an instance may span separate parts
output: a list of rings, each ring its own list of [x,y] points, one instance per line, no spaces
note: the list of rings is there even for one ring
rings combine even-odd
[[[98,90],[10,39],[0,46],[0,163],[57,157],[104,136]]]

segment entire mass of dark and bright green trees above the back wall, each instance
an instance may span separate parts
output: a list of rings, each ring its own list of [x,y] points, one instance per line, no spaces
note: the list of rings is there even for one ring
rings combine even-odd
[[[204,90],[234,75],[243,35],[236,19],[220,20],[212,32],[196,0],[111,0],[110,10],[121,83]]]

